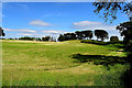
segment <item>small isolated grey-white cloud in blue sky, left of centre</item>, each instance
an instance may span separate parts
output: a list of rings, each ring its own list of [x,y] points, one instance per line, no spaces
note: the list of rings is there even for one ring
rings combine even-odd
[[[34,26],[52,26],[51,23],[41,21],[41,20],[33,20],[29,23],[30,25],[34,25]]]

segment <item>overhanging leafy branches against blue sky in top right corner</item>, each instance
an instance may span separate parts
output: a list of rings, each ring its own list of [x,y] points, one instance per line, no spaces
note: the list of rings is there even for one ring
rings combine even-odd
[[[111,1],[111,2],[110,2]],[[116,2],[117,0],[106,0],[106,2],[94,2],[92,6],[95,6],[97,9],[94,11],[96,14],[101,12],[103,15],[101,18],[105,19],[105,21],[112,22],[117,19],[117,12],[121,11],[125,14],[130,15],[130,4],[129,2]],[[121,1],[121,0],[120,0]],[[109,18],[109,19],[108,19]]]

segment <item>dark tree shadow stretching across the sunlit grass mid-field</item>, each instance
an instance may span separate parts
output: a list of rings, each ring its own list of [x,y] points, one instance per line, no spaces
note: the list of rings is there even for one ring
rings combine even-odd
[[[92,62],[95,65],[103,65],[107,66],[114,64],[125,64],[127,57],[119,57],[119,56],[105,56],[105,55],[81,55],[81,54],[74,54],[72,55],[76,63],[87,63]]]

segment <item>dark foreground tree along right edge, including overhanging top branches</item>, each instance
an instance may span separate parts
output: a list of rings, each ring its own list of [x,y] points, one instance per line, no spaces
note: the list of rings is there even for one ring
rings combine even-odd
[[[113,1],[113,0],[112,0]],[[117,1],[117,0],[116,0]],[[127,14],[130,15],[130,21],[132,22],[132,3],[129,2],[95,2],[94,3],[97,9],[95,12],[98,14],[102,9],[105,10],[103,12],[103,19],[108,21],[108,16],[111,16],[112,20],[109,20],[112,22],[113,20],[117,19],[117,12],[120,10]],[[130,12],[130,13],[129,13]],[[132,87],[132,24],[131,22],[124,22],[120,23],[120,25],[117,26],[117,30],[120,30],[121,35],[124,36],[124,45],[125,48],[128,48],[128,59],[127,62],[130,63],[129,69],[124,73],[124,76],[121,77],[123,80],[123,86],[129,88]]]

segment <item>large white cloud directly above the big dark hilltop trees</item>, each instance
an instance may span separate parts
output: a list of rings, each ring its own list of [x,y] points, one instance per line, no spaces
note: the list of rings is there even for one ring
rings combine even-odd
[[[73,29],[77,30],[116,30],[117,25],[109,25],[101,22],[94,22],[94,21],[80,21],[74,22]]]

